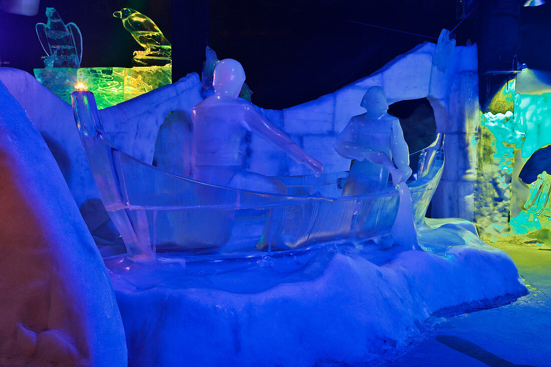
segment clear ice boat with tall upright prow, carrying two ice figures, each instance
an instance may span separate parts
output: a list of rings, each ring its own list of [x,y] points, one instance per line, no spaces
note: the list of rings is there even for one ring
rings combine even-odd
[[[338,240],[359,243],[390,234],[395,222],[396,187],[341,197],[348,172],[277,177],[288,187],[287,195],[208,185],[116,149],[89,91],[73,92],[73,110],[95,184],[129,256],[289,250]],[[420,152],[417,177],[408,182],[416,225],[422,224],[440,181],[443,140],[438,134]]]

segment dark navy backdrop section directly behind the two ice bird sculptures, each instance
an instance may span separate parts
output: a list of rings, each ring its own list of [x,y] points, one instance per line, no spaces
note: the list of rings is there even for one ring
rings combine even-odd
[[[155,21],[171,39],[170,0],[41,0],[34,17],[0,11],[0,59],[14,68],[33,73],[43,68],[45,56],[35,24],[46,23],[46,7],[56,8],[64,23],[74,22],[82,32],[84,51],[81,66],[130,67],[132,53],[141,47],[113,13],[124,7],[141,11]]]

